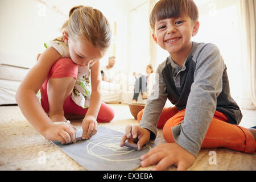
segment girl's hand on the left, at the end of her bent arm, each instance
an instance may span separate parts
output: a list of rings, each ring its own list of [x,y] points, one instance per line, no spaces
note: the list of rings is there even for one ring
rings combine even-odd
[[[61,144],[76,143],[76,130],[69,124],[49,125],[43,131],[44,138],[59,141]]]

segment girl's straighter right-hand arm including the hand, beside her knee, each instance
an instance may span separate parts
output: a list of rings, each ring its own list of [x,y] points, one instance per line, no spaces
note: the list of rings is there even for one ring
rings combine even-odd
[[[98,123],[96,121],[98,111],[101,107],[101,76],[100,76],[100,63],[97,61],[91,68],[91,82],[92,94],[90,97],[90,105],[85,118],[82,121],[82,139],[89,139],[96,134]]]

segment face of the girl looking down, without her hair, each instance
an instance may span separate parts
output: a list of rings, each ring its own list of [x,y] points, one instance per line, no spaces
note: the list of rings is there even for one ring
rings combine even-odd
[[[93,64],[104,56],[99,48],[94,47],[92,43],[85,39],[69,37],[68,49],[71,59],[81,67],[88,65],[89,61],[91,61],[90,64]]]

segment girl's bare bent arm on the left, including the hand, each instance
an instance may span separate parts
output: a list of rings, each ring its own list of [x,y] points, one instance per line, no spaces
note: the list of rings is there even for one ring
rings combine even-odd
[[[16,93],[16,102],[24,117],[44,138],[69,143],[75,140],[75,130],[71,129],[69,125],[54,125],[36,97],[36,93],[46,80],[52,65],[60,58],[61,55],[55,48],[46,49],[20,84]]]

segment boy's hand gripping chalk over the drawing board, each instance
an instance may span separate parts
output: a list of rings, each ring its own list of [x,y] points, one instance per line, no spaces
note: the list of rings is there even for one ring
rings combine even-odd
[[[138,144],[138,150],[144,146],[150,140],[150,131],[143,129],[142,127],[127,125],[125,128],[125,135],[123,135],[120,146],[123,147],[125,140],[128,139],[129,142]]]

